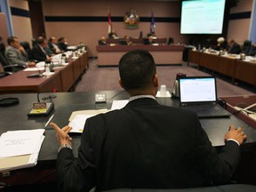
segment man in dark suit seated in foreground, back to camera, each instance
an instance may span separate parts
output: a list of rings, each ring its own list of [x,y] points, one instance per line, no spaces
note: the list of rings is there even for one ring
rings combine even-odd
[[[51,123],[60,142],[60,191],[192,188],[230,180],[246,138],[242,128],[230,126],[218,155],[194,112],[157,103],[156,65],[148,51],[124,54],[119,74],[129,103],[86,120],[77,159],[71,127]]]

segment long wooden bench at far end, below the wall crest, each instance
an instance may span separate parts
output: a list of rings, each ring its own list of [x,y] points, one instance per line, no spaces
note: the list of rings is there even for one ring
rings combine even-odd
[[[99,66],[118,66],[119,60],[125,52],[135,49],[148,50],[157,65],[182,64],[183,44],[132,44],[132,45],[98,45]]]

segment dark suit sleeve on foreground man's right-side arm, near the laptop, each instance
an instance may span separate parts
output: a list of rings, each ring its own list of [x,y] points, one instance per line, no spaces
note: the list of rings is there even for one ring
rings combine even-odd
[[[224,137],[224,136],[223,136]],[[224,140],[224,138],[223,138]],[[231,180],[240,158],[240,147],[230,140],[218,153],[197,122],[197,165],[206,183],[219,185]]]

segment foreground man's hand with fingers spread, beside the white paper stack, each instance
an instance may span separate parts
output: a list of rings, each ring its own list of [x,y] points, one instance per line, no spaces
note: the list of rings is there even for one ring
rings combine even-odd
[[[60,142],[60,145],[71,145],[72,138],[68,135],[68,132],[72,129],[70,126],[65,126],[62,129],[57,124],[51,123],[52,128],[57,132],[56,137],[57,140]]]

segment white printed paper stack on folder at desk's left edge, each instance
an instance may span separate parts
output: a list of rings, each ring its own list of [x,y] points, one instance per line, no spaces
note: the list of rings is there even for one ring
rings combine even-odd
[[[44,129],[4,132],[0,137],[0,172],[35,166]]]

